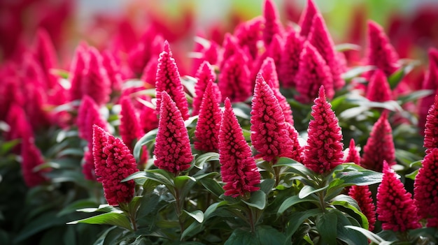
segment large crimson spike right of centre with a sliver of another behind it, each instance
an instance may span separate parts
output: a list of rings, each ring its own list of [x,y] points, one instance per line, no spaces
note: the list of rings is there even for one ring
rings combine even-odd
[[[292,151],[283,110],[260,73],[255,81],[250,123],[251,142],[265,161],[275,162]]]

